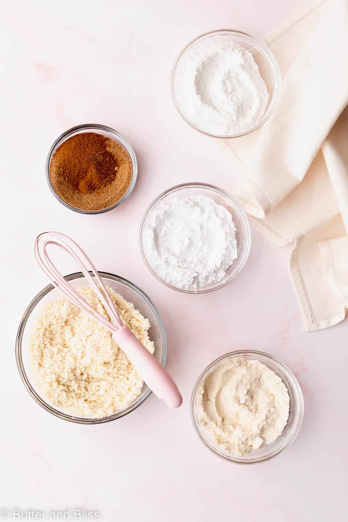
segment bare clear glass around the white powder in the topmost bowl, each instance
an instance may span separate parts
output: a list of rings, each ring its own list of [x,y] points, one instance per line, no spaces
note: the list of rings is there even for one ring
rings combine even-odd
[[[212,134],[208,131],[205,131],[199,127],[197,127],[194,123],[192,123],[189,118],[186,116],[184,111],[182,110],[182,101],[185,97],[185,89],[182,84],[182,80],[184,77],[185,70],[185,61],[186,57],[195,51],[198,51],[205,47],[208,43],[224,43],[224,42],[233,42],[238,45],[244,47],[250,51],[254,56],[254,60],[259,67],[260,74],[263,80],[266,83],[267,90],[269,93],[268,104],[265,110],[265,113],[261,117],[260,121],[254,127],[250,128],[248,131],[241,134],[233,134],[233,135],[218,135]],[[185,59],[184,59],[185,58]],[[197,131],[202,132],[208,136],[213,136],[214,138],[238,138],[239,136],[245,136],[250,132],[255,131],[257,128],[261,127],[264,123],[267,122],[271,114],[273,113],[275,106],[279,100],[280,93],[280,84],[281,84],[281,76],[280,69],[277,61],[275,60],[273,54],[268,49],[268,47],[260,42],[257,38],[250,36],[250,34],[244,33],[242,31],[235,31],[233,29],[217,29],[214,31],[209,31],[203,34],[200,34],[194,40],[191,40],[184,49],[179,53],[178,57],[175,60],[172,77],[171,77],[171,89],[172,89],[172,97],[175,103],[175,106],[179,113],[182,115],[184,120],[194,127]]]

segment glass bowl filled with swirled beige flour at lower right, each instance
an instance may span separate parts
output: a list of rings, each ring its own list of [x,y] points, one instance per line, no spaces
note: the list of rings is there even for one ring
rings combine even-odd
[[[235,464],[279,455],[301,428],[304,403],[294,374],[255,350],[227,353],[199,376],[191,417],[201,442]]]

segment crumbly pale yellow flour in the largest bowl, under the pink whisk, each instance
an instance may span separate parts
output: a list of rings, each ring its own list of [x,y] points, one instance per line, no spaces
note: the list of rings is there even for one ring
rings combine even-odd
[[[91,287],[77,290],[94,310],[110,319]],[[122,322],[153,353],[148,319],[112,288],[107,291]],[[44,306],[33,326],[30,349],[38,386],[53,405],[75,417],[109,416],[141,392],[141,377],[110,331],[65,297]]]

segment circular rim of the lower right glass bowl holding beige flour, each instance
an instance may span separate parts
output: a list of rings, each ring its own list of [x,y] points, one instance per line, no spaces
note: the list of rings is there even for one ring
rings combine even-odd
[[[293,389],[295,391],[295,404],[296,404],[296,409],[297,409],[296,425],[295,425],[294,433],[292,435],[291,440],[284,447],[280,447],[278,450],[275,450],[271,455],[266,456],[266,457],[260,457],[260,458],[255,457],[253,460],[249,460],[249,461],[245,461],[241,457],[237,457],[232,454],[231,454],[231,457],[229,457],[227,455],[220,453],[216,448],[214,448],[211,444],[209,444],[209,442],[206,440],[205,437],[202,436],[201,431],[199,430],[199,427],[198,427],[199,421],[198,420],[196,421],[196,417],[195,417],[195,412],[196,412],[195,399],[196,399],[198,386],[200,385],[203,377],[205,377],[211,371],[211,369],[213,367],[217,366],[223,360],[231,359],[231,358],[234,358],[237,356],[243,357],[243,355],[255,355],[256,357],[261,356],[261,357],[269,359],[272,362],[278,364],[282,368],[284,373],[287,374],[287,376],[289,377],[289,379],[292,383]],[[262,462],[267,462],[268,460],[271,460],[271,459],[277,457],[284,451],[284,449],[288,448],[294,442],[295,438],[298,435],[299,430],[301,429],[301,425],[302,425],[302,421],[303,421],[304,399],[303,399],[302,389],[297,381],[297,378],[295,377],[293,372],[283,362],[281,362],[279,359],[277,359],[277,357],[274,357],[270,353],[260,352],[258,350],[237,350],[234,352],[229,352],[229,353],[225,353],[224,355],[221,355],[221,357],[218,357],[217,359],[212,361],[201,372],[201,374],[199,375],[199,377],[195,383],[193,391],[192,391],[191,401],[190,401],[190,413],[191,413],[191,421],[193,423],[194,430],[195,430],[199,440],[207,449],[209,449],[209,451],[213,455],[221,458],[222,460],[225,460],[226,462],[232,462],[233,464],[238,464],[238,465],[242,465],[242,466],[243,465],[251,466],[254,464],[262,464]]]

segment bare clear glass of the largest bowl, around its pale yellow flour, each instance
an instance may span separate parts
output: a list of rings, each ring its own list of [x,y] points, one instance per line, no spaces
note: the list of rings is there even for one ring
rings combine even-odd
[[[113,288],[116,292],[121,294],[126,301],[133,303],[135,308],[139,310],[144,317],[149,319],[149,337],[154,342],[154,357],[158,359],[162,366],[164,366],[167,356],[166,335],[161,316],[151,299],[135,284],[127,281],[127,279],[115,276],[114,274],[109,274],[109,272],[98,273],[106,286]],[[89,284],[81,272],[65,276],[65,279],[70,281],[74,288],[83,286],[84,284]],[[127,408],[119,410],[113,415],[101,419],[74,417],[63,409],[50,405],[49,402],[46,402],[46,398],[41,396],[41,391],[35,384],[32,372],[30,352],[28,349],[29,335],[32,325],[37,319],[42,306],[60,296],[62,296],[62,293],[54,288],[52,284],[49,284],[49,286],[45,287],[37,296],[34,297],[21,319],[16,339],[16,359],[18,370],[25,387],[32,398],[37,401],[42,408],[66,421],[77,422],[79,424],[101,424],[103,422],[109,422],[124,417],[127,413],[138,408],[138,406],[140,406],[143,401],[151,395],[152,392],[147,384],[143,384],[140,395],[138,395],[138,397],[136,397]]]

